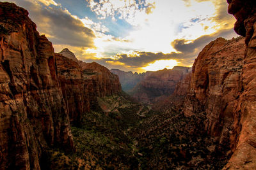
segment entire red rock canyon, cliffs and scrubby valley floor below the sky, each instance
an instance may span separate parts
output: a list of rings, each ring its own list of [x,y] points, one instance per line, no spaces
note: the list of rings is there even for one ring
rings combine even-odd
[[[0,169],[255,169],[256,5],[227,2],[244,38],[144,74],[54,53],[0,3]]]

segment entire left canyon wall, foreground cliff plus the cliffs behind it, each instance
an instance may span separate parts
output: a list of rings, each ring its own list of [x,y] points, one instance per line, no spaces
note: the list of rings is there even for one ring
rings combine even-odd
[[[44,169],[49,150],[74,151],[70,120],[121,86],[106,67],[54,53],[23,8],[0,3],[0,24],[0,169]]]

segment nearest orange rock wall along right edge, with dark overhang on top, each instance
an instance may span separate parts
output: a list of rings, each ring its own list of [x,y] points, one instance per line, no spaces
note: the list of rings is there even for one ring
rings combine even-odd
[[[234,105],[234,130],[231,146],[234,154],[225,169],[256,167],[256,4],[253,0],[228,0],[228,12],[236,17],[237,34],[245,36],[246,50],[239,85],[239,98]]]

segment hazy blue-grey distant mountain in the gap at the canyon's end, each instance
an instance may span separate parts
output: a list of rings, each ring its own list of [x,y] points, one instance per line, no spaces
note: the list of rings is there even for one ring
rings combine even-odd
[[[118,75],[122,90],[125,92],[132,90],[140,81],[144,80],[152,73],[152,71],[147,71],[146,73],[132,73],[131,71],[122,71],[120,69],[111,69],[110,71]]]

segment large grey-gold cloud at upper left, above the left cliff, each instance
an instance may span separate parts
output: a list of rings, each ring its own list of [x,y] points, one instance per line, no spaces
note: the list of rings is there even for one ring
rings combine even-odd
[[[54,44],[94,47],[95,35],[91,29],[72,17],[60,6],[45,6],[26,0],[11,1],[29,11],[29,17],[36,23],[40,34],[44,33]]]

